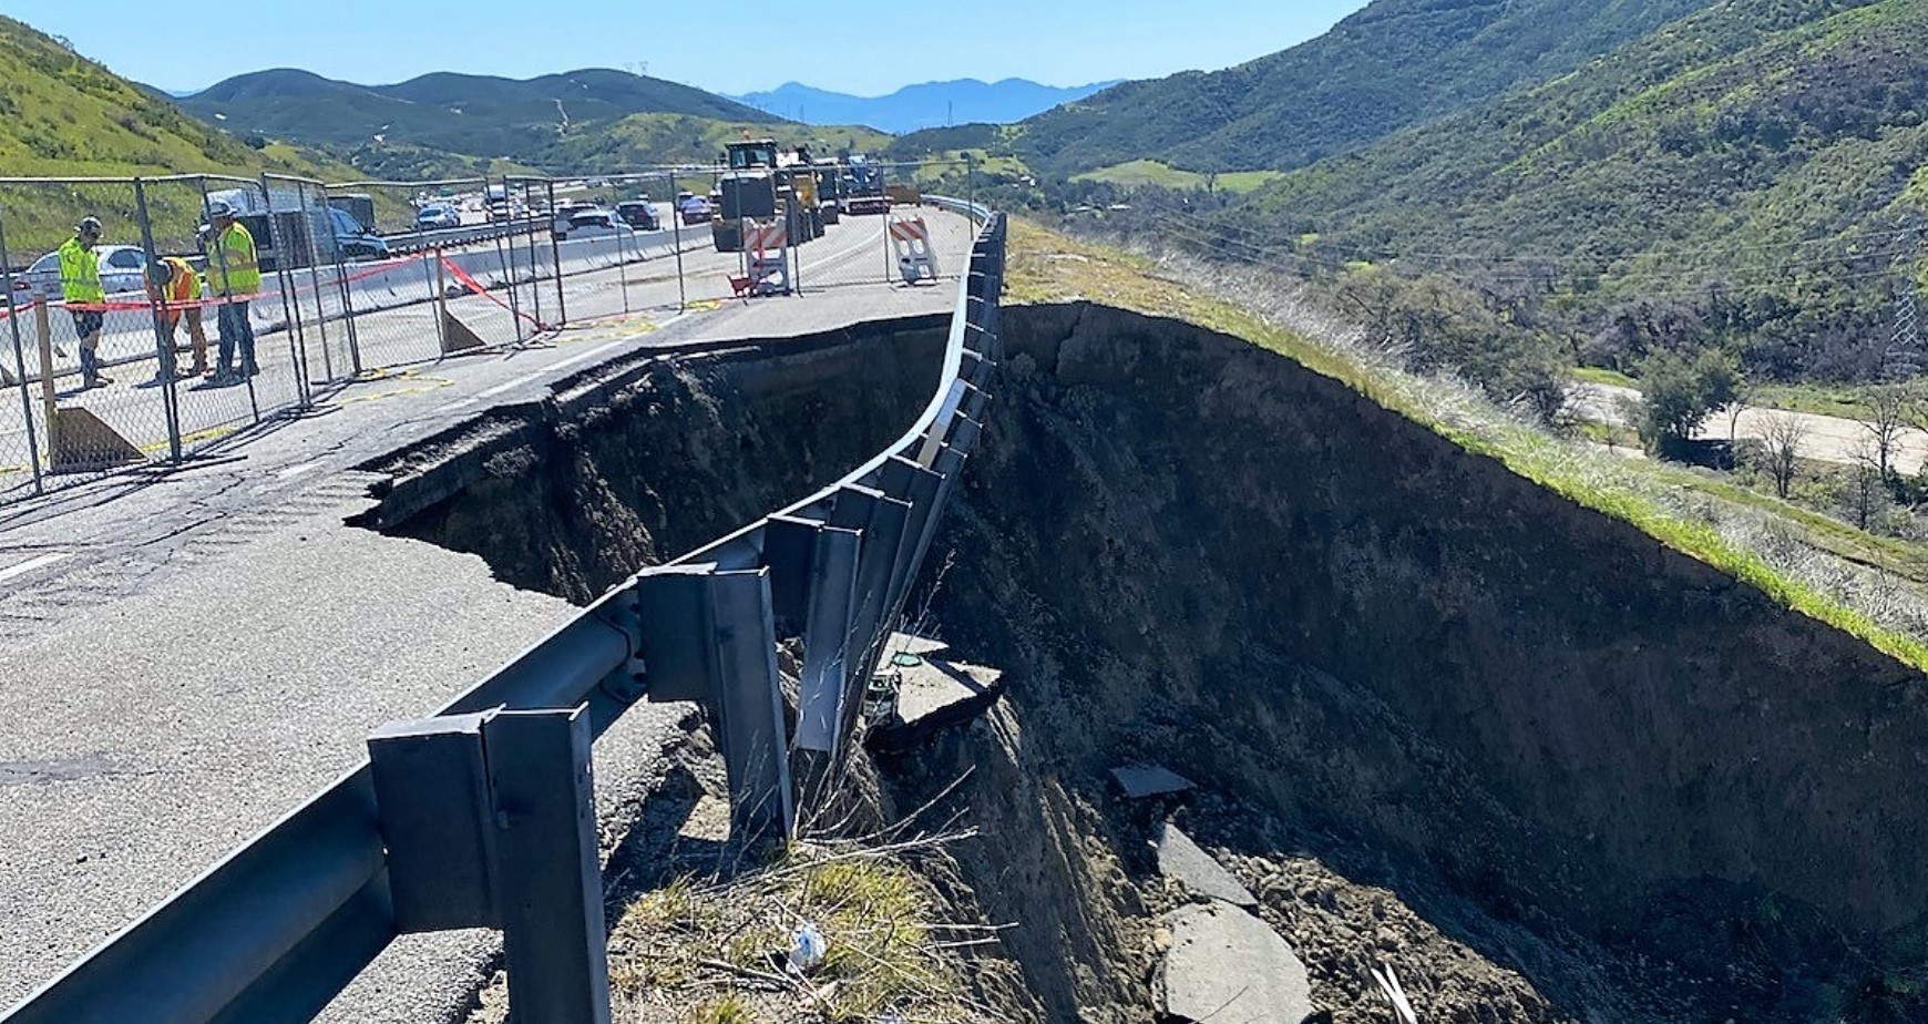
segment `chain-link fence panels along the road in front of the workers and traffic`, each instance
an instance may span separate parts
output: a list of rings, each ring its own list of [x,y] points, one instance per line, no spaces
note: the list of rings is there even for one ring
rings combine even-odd
[[[582,177],[0,179],[0,503],[193,457],[389,366],[962,272],[970,226],[922,191],[968,197],[970,166],[740,148]]]

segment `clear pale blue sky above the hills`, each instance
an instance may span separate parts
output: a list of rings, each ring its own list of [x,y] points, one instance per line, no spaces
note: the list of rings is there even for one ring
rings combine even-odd
[[[956,77],[1084,85],[1215,69],[1311,39],[1365,0],[762,6],[808,12],[814,35],[837,40],[837,48],[798,64],[796,46],[767,33],[731,42],[731,4],[700,2],[243,0],[181,8],[152,0],[0,0],[0,12],[67,37],[114,71],[162,89],[201,89],[262,67],[382,85],[424,71],[530,77],[576,67],[640,71],[648,64],[654,77],[738,94],[785,81],[881,94]],[[216,31],[224,37],[210,35]]]

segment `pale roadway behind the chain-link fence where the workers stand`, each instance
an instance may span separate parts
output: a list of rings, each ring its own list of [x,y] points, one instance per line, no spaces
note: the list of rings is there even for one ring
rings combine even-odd
[[[962,266],[962,253],[968,253],[970,247],[968,224],[931,208],[922,210],[922,214],[935,235],[939,270],[956,274]],[[810,293],[887,282],[887,272],[895,274],[895,264],[885,245],[885,226],[887,220],[881,216],[844,218],[841,224],[829,226],[823,237],[796,249],[796,285]],[[679,245],[683,247],[681,258]],[[495,285],[515,272],[511,262],[497,256],[494,245],[472,249],[484,256],[470,262],[476,266],[478,283]],[[507,289],[490,289],[482,295],[461,291],[461,297],[447,301],[447,310],[484,343],[526,343],[551,334],[544,328],[565,314],[569,324],[594,324],[636,312],[667,314],[681,309],[683,303],[727,299],[731,295],[729,278],[740,274],[742,266],[740,255],[713,249],[708,228],[681,231],[681,237],[665,229],[625,235],[623,239],[569,239],[559,243],[557,251],[563,266],[561,285],[553,276],[546,276],[522,283],[513,293]],[[958,256],[947,258],[945,253],[958,253]],[[455,255],[455,258],[463,256]],[[519,258],[530,260],[526,251]],[[538,272],[549,274],[551,260],[548,239],[542,239],[536,247],[534,266]],[[947,262],[949,266],[945,266]],[[362,372],[418,366],[442,359],[432,301],[438,285],[434,262],[424,256],[399,260],[386,272],[382,266],[386,264],[349,266],[351,276],[362,276],[353,297],[357,309],[353,320],[355,351],[349,347],[349,324],[341,320],[337,291],[312,287],[310,282],[303,280],[305,272],[293,274],[297,303],[305,303],[297,316],[303,322],[301,332],[283,330],[289,316],[280,295],[251,303],[260,376],[229,386],[183,380],[177,393],[181,434],[187,445],[193,449],[218,442],[229,432],[253,424],[256,415],[293,405],[303,378],[316,382],[312,388],[322,391],[351,380],[357,370],[357,353]],[[509,274],[488,268],[507,268]],[[442,276],[440,285],[445,289],[461,287],[447,274]],[[147,310],[125,310],[110,312],[108,318],[100,355],[108,363],[114,384],[83,391],[73,361],[71,318],[66,310],[50,310],[54,341],[67,351],[67,359],[56,355],[54,364],[71,374],[56,380],[58,405],[87,409],[143,451],[166,455],[168,418],[162,388],[154,380],[158,361],[152,316]],[[23,316],[23,320],[27,318]],[[214,310],[206,310],[204,320],[212,363],[218,351]],[[33,482],[27,417],[33,418],[42,445],[46,438],[42,395],[33,384],[39,374],[35,332],[27,324],[21,326],[29,388],[25,403],[17,388],[0,391],[0,503]],[[187,328],[181,326],[175,337],[177,343],[185,343]],[[189,357],[177,359],[185,368]]]

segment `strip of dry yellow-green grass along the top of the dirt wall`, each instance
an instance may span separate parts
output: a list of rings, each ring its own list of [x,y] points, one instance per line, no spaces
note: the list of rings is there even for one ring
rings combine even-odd
[[[1928,671],[1928,550],[1876,538],[1699,471],[1560,438],[1461,380],[1415,374],[1398,351],[1288,282],[1170,253],[1128,255],[1012,222],[1006,297],[1170,316],[1244,337],[1344,382],[1467,451],[1745,580],[1778,604]]]

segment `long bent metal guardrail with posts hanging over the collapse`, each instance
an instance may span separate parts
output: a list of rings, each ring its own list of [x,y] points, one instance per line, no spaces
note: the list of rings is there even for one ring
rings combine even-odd
[[[951,202],[983,229],[937,393],[902,438],[816,496],[638,573],[434,719],[384,727],[370,762],[0,1024],[312,1020],[397,935],[476,926],[503,931],[513,1020],[607,1022],[590,742],[644,698],[704,704],[735,823],[752,831],[792,831],[798,789],[839,769],[999,359],[1004,218]],[[779,636],[804,644],[794,735]]]

